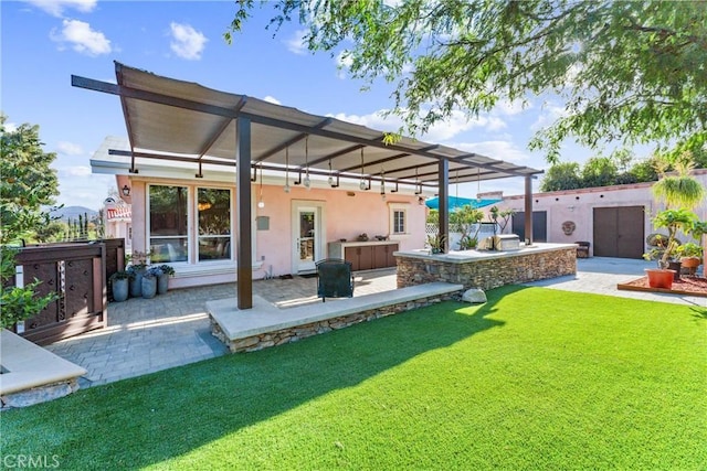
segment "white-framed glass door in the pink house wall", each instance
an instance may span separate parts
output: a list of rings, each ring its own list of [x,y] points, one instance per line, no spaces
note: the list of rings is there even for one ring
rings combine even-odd
[[[323,257],[321,207],[296,205],[293,214],[294,272],[314,271]]]

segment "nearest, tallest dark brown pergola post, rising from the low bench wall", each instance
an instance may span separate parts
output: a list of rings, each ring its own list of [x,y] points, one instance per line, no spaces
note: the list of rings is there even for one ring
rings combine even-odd
[[[239,309],[253,308],[251,222],[251,120],[235,119],[235,226],[236,298]]]

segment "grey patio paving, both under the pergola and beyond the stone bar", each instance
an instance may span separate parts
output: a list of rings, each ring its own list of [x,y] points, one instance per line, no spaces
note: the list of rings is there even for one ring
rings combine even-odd
[[[637,291],[619,291],[616,283],[644,275],[653,263],[592,257],[578,260],[577,276],[528,286],[707,307],[707,299]],[[357,272],[355,297],[395,289],[395,270]],[[253,293],[281,309],[316,304],[316,278],[257,280]],[[81,387],[106,384],[199,362],[228,352],[211,334],[207,301],[232,298],[235,283],[169,291],[154,299],[129,299],[108,306],[108,327],[46,346],[87,370]],[[327,299],[327,303],[337,302]]]

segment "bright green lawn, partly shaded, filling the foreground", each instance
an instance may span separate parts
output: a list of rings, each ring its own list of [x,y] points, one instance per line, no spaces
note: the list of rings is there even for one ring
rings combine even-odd
[[[1,452],[61,469],[707,468],[707,309],[487,296],[4,411]]]

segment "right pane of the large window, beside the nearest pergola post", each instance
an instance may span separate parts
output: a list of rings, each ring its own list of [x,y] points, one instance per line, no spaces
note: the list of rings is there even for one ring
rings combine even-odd
[[[231,259],[231,191],[198,189],[199,261]]]

